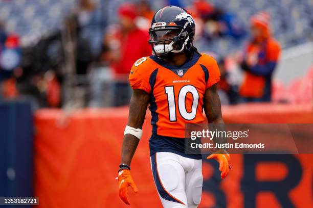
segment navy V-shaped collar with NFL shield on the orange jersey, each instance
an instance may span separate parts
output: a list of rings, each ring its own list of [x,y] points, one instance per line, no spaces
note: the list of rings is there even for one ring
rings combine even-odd
[[[162,59],[159,59],[155,55],[150,56],[150,59],[152,59],[155,63],[173,71],[176,75],[178,75],[177,74],[178,70],[182,70],[183,75],[184,75],[189,68],[191,68],[193,65],[195,65],[197,63],[199,58],[200,58],[200,56],[194,52],[192,58],[187,60],[182,66],[174,66],[174,65],[171,65],[171,64],[164,62]],[[182,77],[183,75],[178,75],[178,76]]]

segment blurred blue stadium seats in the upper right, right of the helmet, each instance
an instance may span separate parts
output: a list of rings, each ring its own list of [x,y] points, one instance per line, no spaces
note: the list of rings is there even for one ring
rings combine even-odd
[[[184,1],[187,2],[188,1]],[[313,1],[306,0],[211,0],[213,5],[234,13],[248,26],[250,16],[258,11],[266,11],[272,17],[272,31],[282,48],[306,42],[313,28]],[[208,43],[208,48],[222,55],[228,54],[242,45],[227,40],[227,46],[219,47],[217,43]]]

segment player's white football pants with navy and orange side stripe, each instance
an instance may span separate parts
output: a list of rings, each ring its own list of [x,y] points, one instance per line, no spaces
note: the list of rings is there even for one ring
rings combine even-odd
[[[164,208],[196,208],[202,193],[202,160],[171,152],[150,157],[154,184]]]

